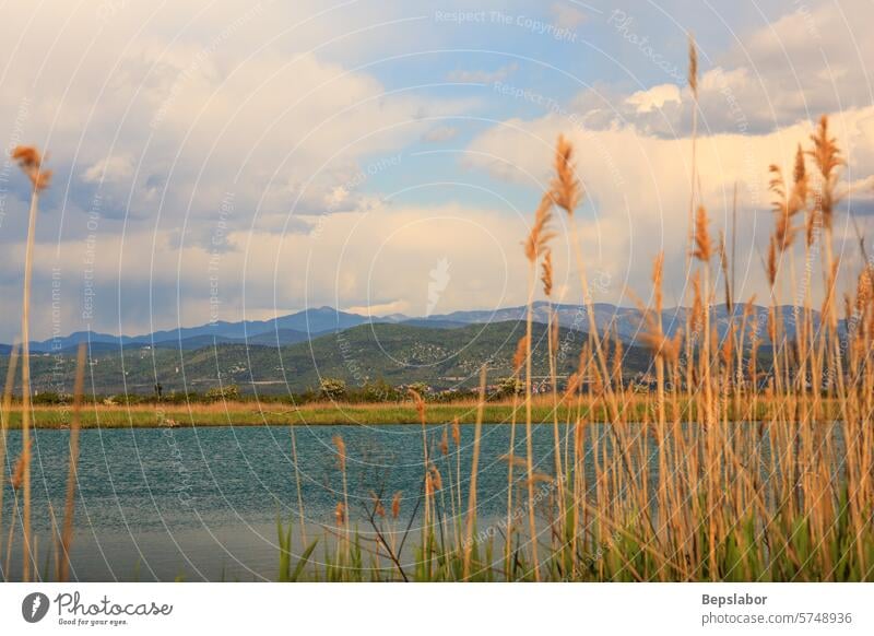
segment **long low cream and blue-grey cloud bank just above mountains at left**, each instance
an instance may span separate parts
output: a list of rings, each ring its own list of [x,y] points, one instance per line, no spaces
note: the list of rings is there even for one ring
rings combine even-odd
[[[529,223],[522,214],[452,203],[332,214],[309,234],[228,229],[232,250],[147,229],[99,235],[92,244],[40,243],[34,306],[52,310],[35,311],[32,330],[39,339],[84,328],[140,334],[323,305],[424,316],[434,306],[435,269],[446,271],[441,263],[451,268],[439,278],[438,311],[520,305],[527,301],[520,242]],[[569,246],[557,239],[554,250],[556,288],[576,290]],[[23,243],[0,251],[0,272],[14,271],[23,252]],[[56,278],[59,299],[52,297]],[[19,310],[20,284],[16,275],[0,278],[11,315]],[[15,333],[15,325],[0,325],[0,342]]]

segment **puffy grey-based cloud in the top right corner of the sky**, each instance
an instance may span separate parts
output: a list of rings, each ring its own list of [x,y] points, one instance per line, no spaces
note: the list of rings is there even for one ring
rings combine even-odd
[[[739,33],[725,51],[709,50],[707,42],[699,42],[699,130],[764,133],[813,121],[822,113],[871,104],[874,90],[867,60],[874,59],[874,43],[855,30],[870,14],[871,3],[865,0],[848,0],[840,7],[803,4],[771,23]],[[622,42],[621,50],[664,62],[665,54],[654,42],[642,32],[628,31],[633,20],[622,23],[622,33],[634,37]],[[638,42],[646,44],[637,47]],[[623,90],[619,82],[606,90],[594,86],[574,104],[584,109],[582,118],[592,128],[630,125],[665,138],[685,136],[692,129],[690,92],[680,78],[637,91]]]

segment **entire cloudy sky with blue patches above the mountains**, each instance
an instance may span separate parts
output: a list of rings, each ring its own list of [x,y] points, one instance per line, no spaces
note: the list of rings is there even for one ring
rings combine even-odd
[[[690,196],[767,298],[768,166],[822,114],[847,165],[842,275],[874,214],[871,0],[260,2],[4,8],[0,140],[37,145],[32,332],[141,334],[329,305],[410,316],[523,304],[521,242],[558,134],[586,200],[556,215],[555,299],[681,303]],[[7,152],[8,154],[8,152]],[[736,225],[732,223],[737,190]],[[28,182],[0,163],[0,341],[20,333]],[[845,267],[846,266],[846,267]]]

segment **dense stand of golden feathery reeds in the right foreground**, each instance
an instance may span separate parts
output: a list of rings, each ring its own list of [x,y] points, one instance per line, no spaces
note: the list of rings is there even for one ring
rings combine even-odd
[[[527,335],[513,361],[520,377],[524,373],[525,457],[515,456],[513,417],[506,456],[506,521],[489,519],[491,528],[484,529],[476,519],[482,421],[477,416],[463,539],[448,532],[441,500],[426,486],[425,540],[408,566],[415,573],[413,578],[874,578],[874,270],[865,264],[854,288],[845,293],[847,327],[839,329],[830,227],[840,199],[837,172],[842,160],[829,137],[828,121],[819,121],[812,149],[799,149],[791,182],[783,179],[780,168],[770,168],[775,225],[764,272],[771,292],[767,335],[759,333],[751,319],[753,298],[737,305],[727,281],[722,293],[731,311],[729,328],[722,335],[717,331],[718,276],[728,279],[732,263],[724,232],[718,240],[712,238],[708,211],[698,203],[688,246],[692,307],[683,330],[670,338],[662,325],[663,255],[658,255],[653,264],[653,303],[645,307],[642,342],[652,354],[656,389],[642,397],[622,385],[619,344],[612,345],[613,365],[607,367],[611,334],[599,333],[592,320],[583,254],[574,224],[582,189],[572,156],[569,142],[559,138],[555,179],[523,244],[530,307],[539,266],[544,292],[550,295],[550,222],[554,208],[565,210],[570,239],[576,244],[583,305],[590,313],[589,340],[582,346],[578,370],[562,392],[553,380],[547,398],[554,407],[553,417],[540,420],[553,425],[555,463],[552,469],[541,468],[532,452],[535,420],[529,309]],[[808,170],[808,161],[813,170]],[[810,229],[817,226],[823,227],[820,234]],[[802,234],[805,240],[796,242]],[[803,250],[810,264],[817,240],[822,243],[825,283],[818,328],[813,321],[816,294],[811,288],[812,276],[805,275],[803,288],[799,288],[794,264],[796,250]],[[778,310],[783,279],[794,294],[794,331]],[[758,361],[764,342],[771,348],[769,368]],[[548,350],[554,368],[557,351],[552,339]],[[420,404],[424,422],[423,409]],[[595,412],[602,415],[600,423],[592,416]],[[567,417],[564,438],[558,434],[558,413]],[[428,448],[425,434],[426,466]],[[516,467],[522,468],[522,475],[513,472]],[[459,472],[458,488],[460,483]],[[522,496],[515,497],[519,485]],[[488,531],[496,526],[497,532]],[[476,527],[479,532],[473,530]],[[438,534],[442,541],[434,540]],[[357,544],[367,551],[366,534]],[[403,555],[398,552],[389,562],[380,561],[377,553],[370,565],[346,570],[344,580],[408,580],[402,563]],[[316,578],[321,576],[318,567],[312,573]]]

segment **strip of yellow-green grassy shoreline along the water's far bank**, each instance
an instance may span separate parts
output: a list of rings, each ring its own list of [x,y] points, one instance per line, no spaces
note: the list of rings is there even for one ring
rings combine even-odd
[[[625,414],[628,421],[647,421],[647,412],[651,415],[654,408],[652,397],[634,396],[625,402]],[[834,404],[827,403],[825,414],[831,417]],[[757,413],[751,417],[751,411],[744,410],[741,417],[730,421],[763,421],[769,417],[772,409],[780,409],[781,401],[766,402],[760,400]],[[517,404],[517,421],[524,419],[523,404]],[[678,404],[684,419],[695,420],[695,407],[689,409],[683,401]],[[494,402],[484,408],[483,422],[487,424],[509,424],[512,420],[512,402]],[[37,428],[66,428],[72,420],[72,409],[67,405],[39,405],[33,408],[33,424]],[[836,413],[835,413],[836,414]],[[591,407],[589,400],[581,404],[559,404],[558,422],[576,421],[577,416],[586,422],[609,422],[610,414],[600,404]],[[433,403],[425,413],[427,424],[446,424],[458,419],[460,424],[473,424],[476,421],[476,403],[474,401]],[[649,419],[651,421],[651,419]],[[21,428],[21,407],[13,407],[9,413],[9,429]],[[152,428],[166,426],[374,426],[391,424],[413,424],[420,422],[420,414],[412,402],[388,403],[331,403],[320,402],[299,407],[277,402],[218,402],[213,404],[137,404],[84,407],[81,413],[83,428]],[[532,404],[532,422],[536,424],[553,422],[552,400],[543,398]]]

